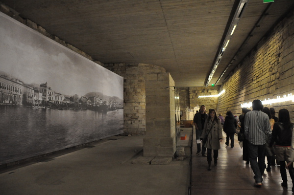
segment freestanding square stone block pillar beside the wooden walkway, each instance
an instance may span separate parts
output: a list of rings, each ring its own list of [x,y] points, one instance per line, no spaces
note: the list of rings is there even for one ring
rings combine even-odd
[[[172,157],[175,151],[174,81],[170,73],[148,74],[143,155]]]

